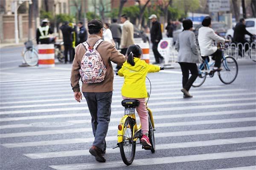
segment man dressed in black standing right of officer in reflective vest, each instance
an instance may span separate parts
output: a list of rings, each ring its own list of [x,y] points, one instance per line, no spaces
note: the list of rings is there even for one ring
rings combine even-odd
[[[69,52],[70,55],[70,63],[73,61],[73,38],[72,38],[72,32],[73,29],[71,26],[68,25],[68,21],[65,21],[64,24],[60,27],[63,35],[63,41],[64,41],[64,55],[65,55],[65,63],[67,63],[67,52]]]

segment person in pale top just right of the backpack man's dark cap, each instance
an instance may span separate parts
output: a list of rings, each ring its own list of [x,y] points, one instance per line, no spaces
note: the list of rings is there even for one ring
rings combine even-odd
[[[116,43],[116,49],[119,49],[122,29],[121,29],[121,26],[119,26],[119,24],[117,23],[116,18],[113,18],[112,22],[113,23],[109,26],[109,29],[111,30],[113,40]]]

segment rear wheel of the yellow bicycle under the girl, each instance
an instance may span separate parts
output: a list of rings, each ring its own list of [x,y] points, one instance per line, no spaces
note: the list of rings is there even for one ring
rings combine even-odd
[[[133,141],[133,134],[133,121],[127,118],[123,129],[123,141],[119,143],[122,161],[126,165],[130,165],[135,157],[136,142]]]

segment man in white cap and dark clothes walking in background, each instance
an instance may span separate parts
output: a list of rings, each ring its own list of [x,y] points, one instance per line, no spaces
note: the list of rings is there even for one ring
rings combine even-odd
[[[152,42],[152,49],[155,57],[155,62],[153,64],[163,63],[163,56],[157,50],[158,43],[162,40],[161,24],[157,21],[157,15],[152,14],[148,19],[152,22],[152,27],[150,30],[150,37]]]

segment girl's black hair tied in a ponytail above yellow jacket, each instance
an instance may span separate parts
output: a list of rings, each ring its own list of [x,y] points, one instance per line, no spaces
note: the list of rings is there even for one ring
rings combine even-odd
[[[134,66],[135,65],[134,57],[139,58],[142,55],[142,50],[139,45],[134,44],[128,47],[126,55],[128,55],[127,63]]]

